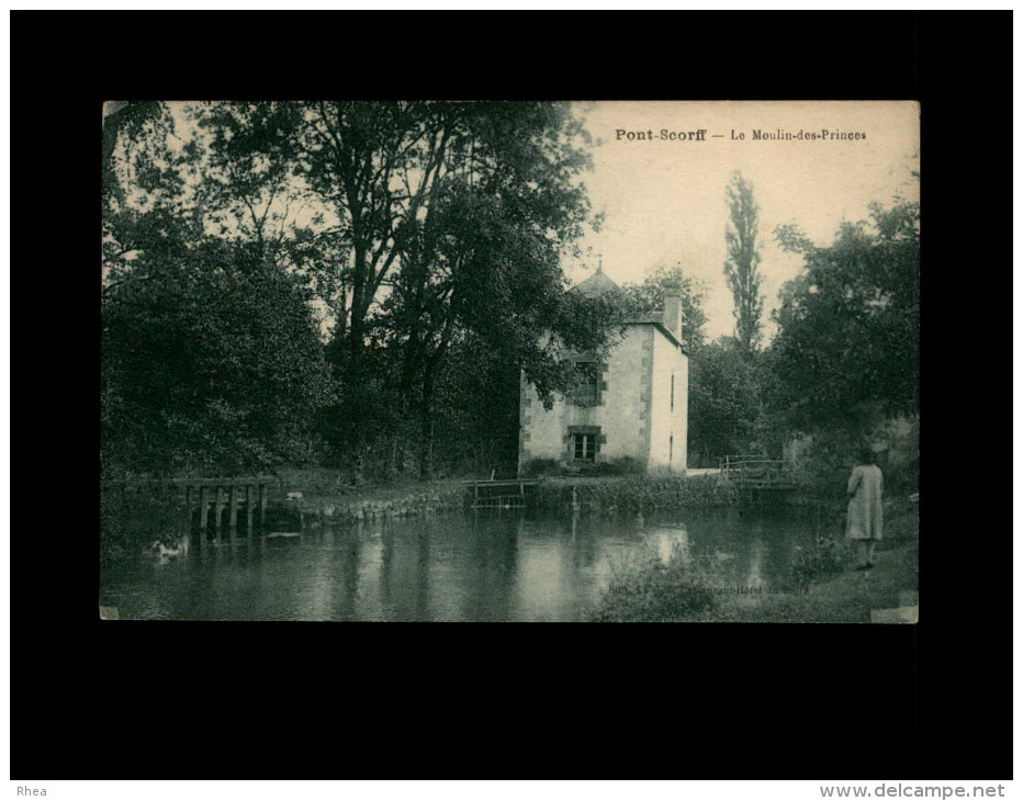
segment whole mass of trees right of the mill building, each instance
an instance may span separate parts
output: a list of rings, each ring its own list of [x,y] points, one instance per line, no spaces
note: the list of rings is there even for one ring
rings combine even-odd
[[[734,221],[751,207],[752,189],[738,182],[730,198]],[[802,271],[782,290],[767,348],[724,337],[693,353],[690,466],[787,451],[803,483],[841,495],[855,454],[869,444],[891,487],[914,486],[920,210],[898,200],[870,212],[869,221],[843,223],[829,246],[792,225],[776,229],[785,250],[802,255]],[[729,245],[741,240],[730,235]],[[737,319],[745,315],[740,300]]]

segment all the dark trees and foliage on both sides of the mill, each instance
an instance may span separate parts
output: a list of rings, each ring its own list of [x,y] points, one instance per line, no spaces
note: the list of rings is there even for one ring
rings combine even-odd
[[[875,206],[829,246],[777,229],[805,269],[761,348],[757,208],[737,176],[739,336],[708,343],[706,287],[679,267],[614,296],[566,291],[562,261],[598,222],[588,142],[565,103],[111,104],[104,466],[509,475],[520,376],[549,404],[572,386],[571,354],[659,313],[668,283],[690,466],[780,455],[807,432],[802,463],[830,481],[857,438],[915,417],[917,204]]]

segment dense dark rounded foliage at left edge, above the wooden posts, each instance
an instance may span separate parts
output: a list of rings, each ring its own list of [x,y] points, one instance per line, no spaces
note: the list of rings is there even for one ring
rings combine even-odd
[[[150,260],[103,314],[108,463],[256,471],[315,456],[308,417],[335,391],[293,277],[229,256]]]

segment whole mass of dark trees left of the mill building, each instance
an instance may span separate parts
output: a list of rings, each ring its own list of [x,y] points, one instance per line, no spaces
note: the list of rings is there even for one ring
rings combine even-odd
[[[514,470],[520,372],[549,403],[615,315],[565,292],[561,259],[595,223],[569,105],[181,116],[108,108],[106,463]]]

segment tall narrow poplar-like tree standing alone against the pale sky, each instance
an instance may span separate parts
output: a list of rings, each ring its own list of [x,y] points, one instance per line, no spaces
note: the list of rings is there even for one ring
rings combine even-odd
[[[734,300],[735,338],[752,353],[762,339],[761,315],[764,298],[761,296],[760,246],[756,241],[760,208],[753,200],[753,184],[735,172],[726,190],[729,224],[724,234],[727,257],[724,277]]]

